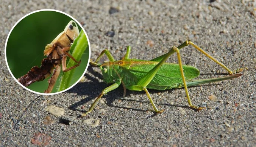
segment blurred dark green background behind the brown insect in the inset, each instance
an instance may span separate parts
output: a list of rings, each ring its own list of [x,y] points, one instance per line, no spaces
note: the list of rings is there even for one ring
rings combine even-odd
[[[9,68],[16,79],[27,74],[33,66],[41,66],[45,46],[66,27],[72,20],[69,16],[55,11],[40,11],[23,18],[12,30],[6,47],[6,57]],[[78,26],[79,31],[81,27]],[[80,66],[75,68],[70,86],[72,86],[83,75],[89,60],[89,47],[81,58]],[[59,78],[55,83],[52,93],[57,92]],[[49,77],[50,78],[50,77]],[[44,93],[48,87],[48,79],[39,81],[28,86],[36,92]]]

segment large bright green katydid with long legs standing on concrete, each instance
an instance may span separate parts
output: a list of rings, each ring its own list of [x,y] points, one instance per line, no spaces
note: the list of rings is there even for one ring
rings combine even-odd
[[[229,70],[225,65],[217,61],[211,55],[207,54],[205,51],[203,51],[203,49],[201,49],[191,41],[185,41],[178,47],[173,46],[167,54],[159,56],[150,61],[130,59],[130,46],[127,47],[127,52],[125,56],[122,58],[122,60],[119,61],[114,60],[114,57],[111,55],[111,53],[107,49],[105,49],[101,52],[96,61],[90,61],[90,64],[92,66],[100,67],[103,75],[103,80],[106,83],[114,84],[106,87],[91,105],[89,111],[83,113],[82,116],[86,116],[88,113],[90,113],[103,95],[116,89],[120,86],[120,84],[123,85],[124,96],[126,93],[126,89],[136,91],[144,90],[156,113],[162,113],[163,110],[157,109],[147,89],[166,90],[184,87],[189,107],[196,110],[205,109],[205,107],[198,107],[192,105],[187,87],[204,83],[228,80],[239,77],[242,74],[234,74],[225,77],[210,78],[204,80],[192,80],[198,77],[200,75],[200,72],[197,68],[193,66],[182,65],[180,56],[180,49],[189,45],[192,45],[193,47],[195,47],[195,49],[197,49],[208,58],[222,66],[228,71],[229,74],[233,74],[233,72]],[[179,64],[165,63],[167,58],[169,58],[169,56],[175,52],[178,56]],[[100,60],[103,54],[106,54],[109,61],[103,64],[98,64],[97,62]]]

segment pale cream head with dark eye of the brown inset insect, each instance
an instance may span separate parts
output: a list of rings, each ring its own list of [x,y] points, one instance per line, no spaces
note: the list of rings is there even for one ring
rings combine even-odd
[[[75,38],[79,35],[79,30],[77,28],[77,24],[75,21],[71,20],[67,24],[66,28],[64,29],[64,32],[72,39],[75,40]]]

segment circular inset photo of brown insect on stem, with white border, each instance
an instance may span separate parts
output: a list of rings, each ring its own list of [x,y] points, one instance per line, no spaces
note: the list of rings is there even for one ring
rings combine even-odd
[[[83,26],[72,16],[52,9],[22,17],[5,44],[12,77],[25,89],[44,95],[75,86],[86,72],[90,52]]]

